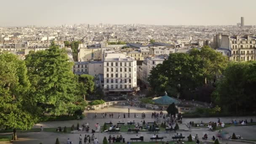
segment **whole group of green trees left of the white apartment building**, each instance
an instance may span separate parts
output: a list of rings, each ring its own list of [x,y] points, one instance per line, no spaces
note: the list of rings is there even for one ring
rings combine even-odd
[[[51,43],[45,51],[30,51],[25,61],[0,53],[0,125],[29,129],[40,117],[83,111],[84,96],[93,92],[93,77],[71,71],[65,49]]]

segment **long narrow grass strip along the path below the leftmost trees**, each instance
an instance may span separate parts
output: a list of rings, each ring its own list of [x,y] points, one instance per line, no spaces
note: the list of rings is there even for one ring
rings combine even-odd
[[[32,128],[30,130],[17,129],[17,132],[37,132],[37,131],[40,131],[40,128]],[[56,131],[56,128],[44,128],[43,131],[54,132],[54,133],[64,133],[64,132]],[[13,129],[1,130],[0,131],[0,133],[11,133],[11,132],[13,132]],[[71,128],[67,128],[67,133],[71,133]]]

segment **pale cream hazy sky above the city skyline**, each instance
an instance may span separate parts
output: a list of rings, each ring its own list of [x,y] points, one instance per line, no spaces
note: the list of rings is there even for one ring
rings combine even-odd
[[[256,0],[1,0],[0,26],[256,25]]]

